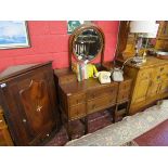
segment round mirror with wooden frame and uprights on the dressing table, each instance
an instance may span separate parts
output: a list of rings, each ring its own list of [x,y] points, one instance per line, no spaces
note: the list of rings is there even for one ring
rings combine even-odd
[[[68,55],[69,67],[72,57],[77,62],[92,62],[101,55],[101,64],[104,60],[105,38],[102,29],[94,24],[83,24],[77,27],[69,37]]]

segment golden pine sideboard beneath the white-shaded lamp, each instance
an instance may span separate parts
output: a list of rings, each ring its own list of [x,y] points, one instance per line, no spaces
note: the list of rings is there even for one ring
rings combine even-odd
[[[133,79],[130,114],[168,96],[168,61],[147,57],[142,66],[128,63],[125,73]]]

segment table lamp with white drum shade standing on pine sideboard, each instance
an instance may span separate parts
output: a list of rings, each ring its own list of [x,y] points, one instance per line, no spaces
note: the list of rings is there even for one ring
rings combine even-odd
[[[142,47],[142,38],[151,38],[154,35],[156,37],[156,28],[158,28],[158,25],[156,26],[155,21],[131,21],[130,33],[135,34],[135,55],[132,57],[132,63],[141,65],[145,62],[145,56],[139,55],[139,50]]]

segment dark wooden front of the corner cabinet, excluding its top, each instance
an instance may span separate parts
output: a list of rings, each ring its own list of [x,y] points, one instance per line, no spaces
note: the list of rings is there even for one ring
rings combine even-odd
[[[9,106],[7,117],[16,145],[36,145],[56,125],[53,82],[50,70],[36,69],[12,79],[3,89]]]

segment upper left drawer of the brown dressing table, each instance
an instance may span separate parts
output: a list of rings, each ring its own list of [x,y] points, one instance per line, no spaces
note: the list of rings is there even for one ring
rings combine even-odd
[[[86,94],[80,93],[80,94],[73,94],[68,96],[68,104],[69,106],[78,105],[80,103],[83,103],[86,100]]]

